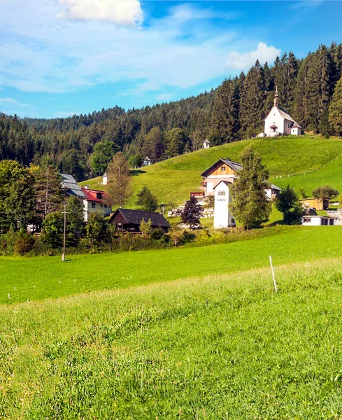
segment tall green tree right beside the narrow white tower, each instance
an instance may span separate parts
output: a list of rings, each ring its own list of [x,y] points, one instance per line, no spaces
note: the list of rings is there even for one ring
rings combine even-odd
[[[243,169],[232,185],[232,212],[245,229],[259,228],[271,213],[265,190],[269,188],[269,172],[252,146],[241,155]]]

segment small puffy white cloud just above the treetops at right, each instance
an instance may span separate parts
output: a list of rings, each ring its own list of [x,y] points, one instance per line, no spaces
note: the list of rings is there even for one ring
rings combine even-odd
[[[280,50],[278,48],[260,42],[256,50],[242,53],[236,51],[230,52],[226,66],[229,69],[245,70],[253,66],[257,59],[259,59],[260,64],[264,64],[265,62],[271,63],[279,54]]]

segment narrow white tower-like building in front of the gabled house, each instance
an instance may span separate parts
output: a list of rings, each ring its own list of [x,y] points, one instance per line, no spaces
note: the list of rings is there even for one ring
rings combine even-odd
[[[215,214],[214,214],[214,229],[229,228],[235,226],[235,220],[229,209],[231,204],[230,195],[231,183],[228,181],[220,181],[215,186]]]

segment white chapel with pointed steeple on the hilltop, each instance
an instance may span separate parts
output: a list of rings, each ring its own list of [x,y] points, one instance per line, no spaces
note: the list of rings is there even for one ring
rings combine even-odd
[[[286,109],[279,106],[278,87],[276,87],[273,108],[264,122],[264,132],[260,133],[258,137],[278,137],[284,134],[300,136],[302,132],[301,126],[294,121]]]

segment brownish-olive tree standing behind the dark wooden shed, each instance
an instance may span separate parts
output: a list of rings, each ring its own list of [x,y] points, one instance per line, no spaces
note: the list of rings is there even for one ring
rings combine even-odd
[[[128,160],[122,152],[116,153],[108,166],[108,185],[106,189],[110,206],[122,208],[131,196],[131,174]]]

